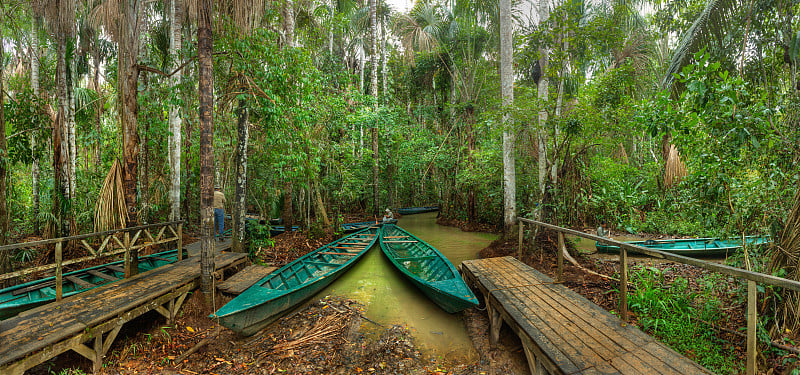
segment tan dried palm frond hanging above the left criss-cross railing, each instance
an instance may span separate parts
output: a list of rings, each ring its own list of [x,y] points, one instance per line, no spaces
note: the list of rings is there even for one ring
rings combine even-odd
[[[122,163],[114,161],[100,188],[100,195],[94,206],[94,230],[103,232],[125,228],[128,211],[125,206],[125,191],[122,186]]]

